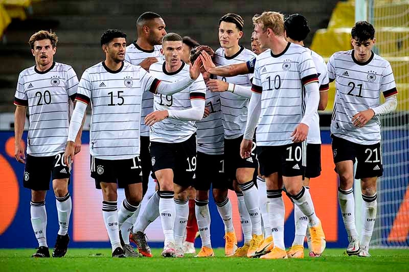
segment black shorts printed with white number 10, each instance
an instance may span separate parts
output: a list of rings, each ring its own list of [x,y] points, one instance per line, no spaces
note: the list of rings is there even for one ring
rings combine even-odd
[[[286,145],[260,146],[258,149],[260,174],[267,177],[278,172],[284,177],[304,177],[306,149],[306,141]]]

